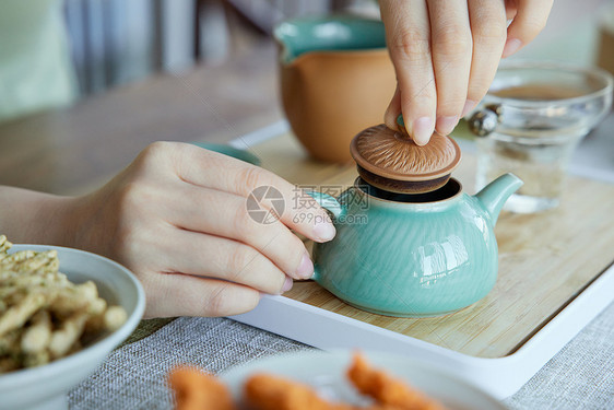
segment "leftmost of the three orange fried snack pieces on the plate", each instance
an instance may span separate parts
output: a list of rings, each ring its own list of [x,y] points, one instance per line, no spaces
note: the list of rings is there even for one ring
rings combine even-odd
[[[236,410],[228,388],[216,377],[191,367],[177,367],[168,377],[177,410]]]

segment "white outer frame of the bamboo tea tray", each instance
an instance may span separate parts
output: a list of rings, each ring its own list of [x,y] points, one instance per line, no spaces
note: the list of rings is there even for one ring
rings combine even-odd
[[[244,136],[232,144],[245,149],[287,130],[287,122],[275,122]],[[231,318],[323,350],[380,350],[429,361],[485,389],[496,398],[504,399],[518,391],[612,302],[614,265],[544,324],[516,352],[495,359],[459,353],[284,296],[265,295],[256,309]]]

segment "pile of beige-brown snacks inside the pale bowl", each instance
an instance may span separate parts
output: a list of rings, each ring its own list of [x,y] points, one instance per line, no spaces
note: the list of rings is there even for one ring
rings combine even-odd
[[[79,351],[126,321],[126,311],[107,306],[94,282],[74,284],[59,272],[57,251],[10,248],[0,235],[0,373]]]

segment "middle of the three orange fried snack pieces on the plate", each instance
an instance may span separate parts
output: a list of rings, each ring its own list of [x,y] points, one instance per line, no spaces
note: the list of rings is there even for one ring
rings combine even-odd
[[[250,410],[352,410],[331,403],[309,386],[269,374],[256,374],[244,386],[244,400]]]

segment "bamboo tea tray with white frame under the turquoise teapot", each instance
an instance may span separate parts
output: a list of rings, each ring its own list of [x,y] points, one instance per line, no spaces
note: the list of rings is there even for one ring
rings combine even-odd
[[[353,164],[309,160],[288,131],[251,151],[264,168],[329,192],[341,192],[357,175]],[[463,151],[453,176],[470,194],[474,169],[475,159]],[[358,347],[428,359],[507,397],[614,300],[613,203],[614,185],[570,177],[558,209],[503,212],[495,227],[497,283],[485,298],[453,315],[375,315],[305,281],[234,318],[323,349]]]

